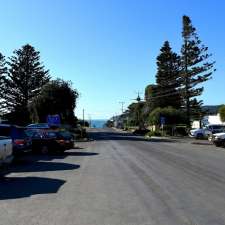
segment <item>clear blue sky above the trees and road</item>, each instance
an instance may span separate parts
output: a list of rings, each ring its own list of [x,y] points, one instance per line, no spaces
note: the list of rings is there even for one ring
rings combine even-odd
[[[41,54],[53,78],[71,80],[81,118],[109,119],[155,82],[156,57],[168,40],[180,52],[188,15],[216,61],[205,105],[225,103],[225,2],[222,0],[0,0],[0,52],[24,44]]]

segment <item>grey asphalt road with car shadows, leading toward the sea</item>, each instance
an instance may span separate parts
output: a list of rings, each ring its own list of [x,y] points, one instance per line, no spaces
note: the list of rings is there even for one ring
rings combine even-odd
[[[2,225],[225,225],[225,149],[92,129],[0,181]]]

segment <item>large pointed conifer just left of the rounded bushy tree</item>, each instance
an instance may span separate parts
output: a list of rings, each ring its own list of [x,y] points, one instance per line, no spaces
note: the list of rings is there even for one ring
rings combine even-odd
[[[30,121],[28,103],[49,81],[49,71],[40,61],[40,52],[29,44],[14,51],[8,66],[2,106],[11,122],[26,124]]]

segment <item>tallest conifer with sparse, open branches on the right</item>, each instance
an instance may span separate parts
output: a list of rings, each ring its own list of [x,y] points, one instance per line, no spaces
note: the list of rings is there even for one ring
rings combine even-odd
[[[183,45],[181,49],[181,85],[186,110],[187,125],[191,121],[191,100],[202,94],[203,87],[199,84],[209,80],[215,62],[208,62],[211,54],[208,54],[208,47],[202,44],[193,27],[191,19],[183,16]]]

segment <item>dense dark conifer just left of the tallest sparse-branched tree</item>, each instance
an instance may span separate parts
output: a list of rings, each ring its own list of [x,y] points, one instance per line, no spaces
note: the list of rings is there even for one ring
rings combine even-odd
[[[165,41],[157,57],[157,88],[155,96],[152,96],[152,101],[155,99],[158,107],[181,107],[179,75],[180,57],[172,51],[169,42]]]

